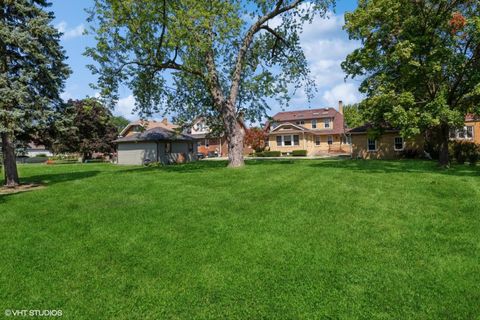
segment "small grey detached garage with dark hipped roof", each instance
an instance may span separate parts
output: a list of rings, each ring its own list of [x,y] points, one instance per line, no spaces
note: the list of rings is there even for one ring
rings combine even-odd
[[[118,164],[172,164],[194,161],[197,158],[197,144],[193,137],[165,128],[137,132],[115,142]]]

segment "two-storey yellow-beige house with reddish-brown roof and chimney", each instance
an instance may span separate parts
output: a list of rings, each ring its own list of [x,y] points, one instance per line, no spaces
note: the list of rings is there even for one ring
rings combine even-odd
[[[269,127],[268,146],[283,155],[294,150],[306,150],[309,156],[351,152],[341,101],[338,111],[322,108],[279,112]]]

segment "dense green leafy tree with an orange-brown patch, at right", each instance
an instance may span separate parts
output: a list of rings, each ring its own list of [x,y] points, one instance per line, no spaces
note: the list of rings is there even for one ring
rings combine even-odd
[[[375,123],[404,136],[429,130],[448,163],[448,131],[468,112],[480,112],[478,0],[360,0],[345,29],[360,48],[342,67],[362,78],[361,103]]]

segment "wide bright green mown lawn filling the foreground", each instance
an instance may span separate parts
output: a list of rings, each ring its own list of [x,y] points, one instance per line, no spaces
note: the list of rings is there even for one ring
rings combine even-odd
[[[480,319],[480,167],[24,165],[0,195],[0,314]]]

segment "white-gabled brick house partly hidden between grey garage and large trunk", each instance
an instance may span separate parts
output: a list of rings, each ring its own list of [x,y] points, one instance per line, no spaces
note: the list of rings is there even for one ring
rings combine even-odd
[[[228,155],[227,139],[214,136],[203,117],[198,117],[186,131],[191,135],[198,148],[198,153],[205,157],[226,157]]]

